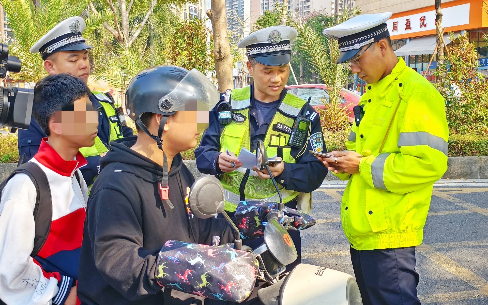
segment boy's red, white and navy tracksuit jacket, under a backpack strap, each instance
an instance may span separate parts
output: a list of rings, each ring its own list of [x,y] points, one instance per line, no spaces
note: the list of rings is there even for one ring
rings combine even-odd
[[[5,185],[0,201],[0,299],[7,305],[64,304],[78,278],[88,190],[75,172],[86,164],[78,153],[65,161],[42,139],[30,161],[46,174],[52,196],[52,223],[46,243],[36,257],[34,206],[36,188],[25,174]],[[81,172],[79,172],[81,177]]]

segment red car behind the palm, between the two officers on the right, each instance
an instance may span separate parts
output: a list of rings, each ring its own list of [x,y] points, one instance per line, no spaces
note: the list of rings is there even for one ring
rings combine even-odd
[[[321,99],[324,99],[327,102],[330,101],[327,85],[324,84],[290,85],[285,88],[305,101],[308,100],[308,97],[311,97],[310,105],[314,108],[324,109],[326,107]],[[359,103],[361,96],[344,88],[342,89],[341,96],[341,106],[346,107],[349,111],[349,122],[352,123],[354,122],[354,112],[352,111],[352,108]]]

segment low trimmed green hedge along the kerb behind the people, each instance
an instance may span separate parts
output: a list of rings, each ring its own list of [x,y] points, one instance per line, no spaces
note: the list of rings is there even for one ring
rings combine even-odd
[[[349,130],[338,133],[324,131],[324,143],[327,151],[345,150]],[[200,143],[200,138],[198,139]],[[194,160],[194,149],[182,153],[184,160]],[[449,136],[448,156],[488,156],[488,135],[459,135]],[[17,148],[17,134],[0,134],[0,163],[17,163],[19,151]]]

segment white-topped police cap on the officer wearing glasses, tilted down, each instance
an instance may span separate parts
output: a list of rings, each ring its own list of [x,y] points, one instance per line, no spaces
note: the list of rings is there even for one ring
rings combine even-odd
[[[322,32],[325,36],[339,40],[340,53],[336,63],[348,61],[363,46],[390,36],[385,22],[391,15],[391,12],[363,14],[325,29]]]

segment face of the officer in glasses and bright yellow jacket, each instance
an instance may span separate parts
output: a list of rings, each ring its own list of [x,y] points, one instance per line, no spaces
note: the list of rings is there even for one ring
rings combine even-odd
[[[352,64],[351,72],[367,83],[381,80],[386,71],[386,48],[387,44],[384,40],[365,45],[361,52],[366,51],[355,59],[359,65]]]

